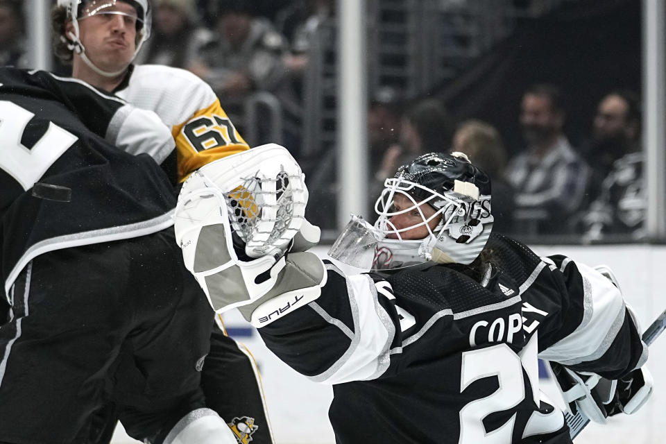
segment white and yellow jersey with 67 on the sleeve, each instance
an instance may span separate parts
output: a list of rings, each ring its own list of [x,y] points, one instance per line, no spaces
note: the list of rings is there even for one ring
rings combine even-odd
[[[150,154],[173,185],[213,160],[250,148],[211,87],[185,69],[130,65],[114,94],[137,108],[155,112],[171,129],[176,146]],[[141,151],[135,148],[132,152]]]

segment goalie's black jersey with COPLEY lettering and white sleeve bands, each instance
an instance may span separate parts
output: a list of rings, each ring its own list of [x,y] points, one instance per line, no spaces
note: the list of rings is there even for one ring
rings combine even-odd
[[[459,264],[345,276],[259,329],[282,361],[334,384],[337,443],[570,443],[538,358],[616,379],[647,346],[617,290],[563,256],[491,234],[481,282]]]

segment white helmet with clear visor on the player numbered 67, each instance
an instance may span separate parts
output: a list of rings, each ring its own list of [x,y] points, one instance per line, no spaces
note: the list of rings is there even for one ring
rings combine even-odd
[[[117,3],[127,3],[130,6],[133,6],[136,14],[122,12],[117,9]],[[127,67],[119,71],[105,71],[96,65],[88,58],[85,53],[85,47],[80,40],[79,26],[78,22],[80,20],[86,19],[87,17],[92,17],[93,15],[123,15],[127,17],[128,20],[133,20],[137,28],[137,40],[135,42],[136,48],[134,51],[134,56],[136,57],[139,53],[141,46],[148,40],[148,37],[151,36],[151,24],[152,24],[152,11],[151,5],[148,3],[148,0],[58,0],[58,6],[67,8],[67,17],[71,20],[72,25],[74,26],[74,32],[67,33],[67,35],[60,36],[60,39],[67,43],[67,47],[78,53],[86,65],[90,67],[93,71],[101,76],[105,77],[115,77],[123,74]]]

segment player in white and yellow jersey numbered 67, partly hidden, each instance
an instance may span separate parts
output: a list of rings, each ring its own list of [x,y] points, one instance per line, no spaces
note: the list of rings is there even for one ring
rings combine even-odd
[[[52,25],[56,55],[72,63],[75,78],[113,92],[137,108],[154,111],[171,128],[176,146],[148,154],[167,172],[176,190],[191,171],[249,149],[203,80],[182,69],[132,65],[150,36],[148,0],[58,0]],[[200,296],[205,297],[203,293]],[[257,366],[243,344],[223,333],[219,316],[216,322],[220,328],[212,333],[210,355],[203,365],[208,406],[218,411],[232,430],[234,420],[253,422],[251,436],[234,432],[239,440],[272,443]],[[131,362],[126,364],[122,379],[128,386],[117,388],[117,394],[129,399],[140,389],[133,381],[140,380],[141,374],[131,368]],[[122,401],[116,400],[118,404]],[[113,425],[93,432],[99,434],[96,442],[108,442]]]

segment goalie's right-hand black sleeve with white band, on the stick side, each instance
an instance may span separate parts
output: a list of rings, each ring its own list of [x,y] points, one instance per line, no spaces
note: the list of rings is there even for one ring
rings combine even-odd
[[[545,258],[561,305],[539,328],[539,357],[617,379],[647,360],[647,345],[622,293],[604,275],[563,256]]]

